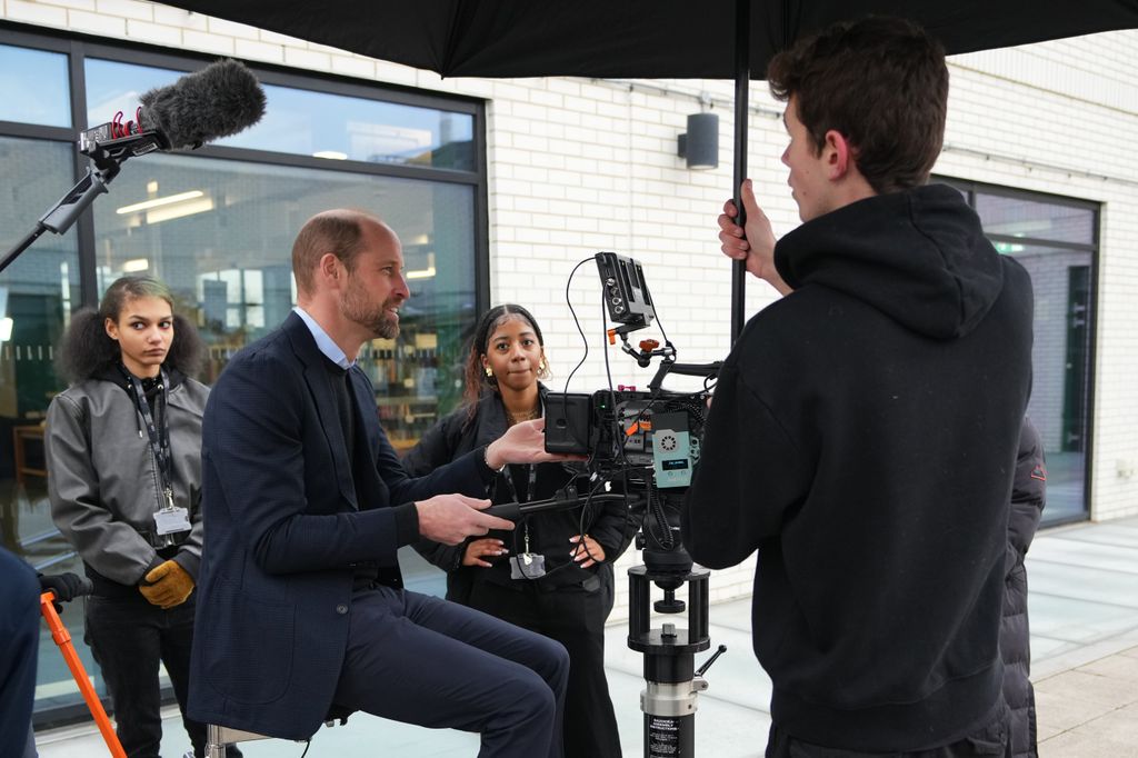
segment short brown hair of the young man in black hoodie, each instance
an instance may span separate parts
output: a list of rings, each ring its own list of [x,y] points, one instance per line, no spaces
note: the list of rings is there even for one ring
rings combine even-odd
[[[792,97],[817,154],[830,130],[853,148],[874,191],[924,184],[948,110],[945,49],[918,26],[871,16],[795,42],[767,67],[772,93]]]

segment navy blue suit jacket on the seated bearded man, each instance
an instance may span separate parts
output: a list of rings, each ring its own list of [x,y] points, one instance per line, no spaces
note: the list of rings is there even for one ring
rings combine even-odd
[[[209,394],[191,718],[311,736],[340,675],[356,567],[376,565],[398,584],[398,506],[486,494],[481,448],[410,478],[380,428],[371,382],[358,369],[351,376],[356,447],[370,456],[355,458],[358,496],[328,359],[295,313],[238,353]]]

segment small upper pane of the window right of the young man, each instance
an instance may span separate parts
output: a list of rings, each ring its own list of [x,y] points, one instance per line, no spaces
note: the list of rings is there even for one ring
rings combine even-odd
[[[976,213],[988,234],[1095,244],[1090,208],[976,192]]]

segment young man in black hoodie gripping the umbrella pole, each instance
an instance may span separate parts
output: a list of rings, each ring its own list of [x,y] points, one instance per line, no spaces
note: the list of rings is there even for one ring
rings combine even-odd
[[[758,550],[767,756],[1001,756],[1007,500],[1031,385],[1031,283],[960,193],[927,186],[943,50],[897,19],[778,55],[802,225],[743,187],[724,252],[786,297],[719,374],[684,543]],[[1009,753],[1007,753],[1009,755]]]

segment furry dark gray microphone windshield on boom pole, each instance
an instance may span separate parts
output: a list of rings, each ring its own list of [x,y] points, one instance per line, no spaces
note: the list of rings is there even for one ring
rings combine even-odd
[[[244,64],[226,58],[140,98],[140,125],[172,149],[196,148],[237,134],[265,115],[265,92]]]

